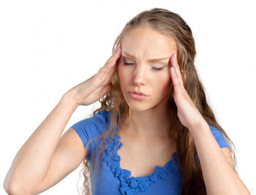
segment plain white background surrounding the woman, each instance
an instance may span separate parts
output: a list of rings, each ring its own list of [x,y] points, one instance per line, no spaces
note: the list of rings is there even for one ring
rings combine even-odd
[[[0,194],[16,153],[61,96],[105,64],[128,20],[153,7],[180,14],[191,27],[195,66],[236,146],[240,178],[256,194],[256,4],[249,0],[1,1]],[[64,132],[92,109],[78,107]],[[80,168],[42,194],[77,194]]]

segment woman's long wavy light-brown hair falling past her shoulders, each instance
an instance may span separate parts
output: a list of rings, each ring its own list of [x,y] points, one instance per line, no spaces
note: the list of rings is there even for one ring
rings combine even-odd
[[[153,31],[165,35],[167,38],[170,38],[170,40],[173,40],[175,42],[175,46],[177,48],[177,61],[180,67],[180,72],[182,74],[184,88],[188,92],[191,100],[198,108],[205,121],[207,121],[208,124],[218,128],[218,130],[220,130],[220,132],[224,136],[230,147],[233,160],[233,169],[238,174],[235,155],[236,149],[234,143],[230,140],[226,132],[218,124],[213,110],[207,102],[205,88],[200,81],[194,65],[196,52],[192,31],[188,24],[186,24],[186,22],[180,17],[180,15],[160,8],[142,11],[134,18],[132,18],[132,20],[126,23],[126,25],[119,33],[114,42],[112,53],[114,53],[115,48],[117,48],[118,44],[124,39],[124,36],[128,31],[134,28],[144,27],[151,28]],[[124,96],[121,92],[118,68],[110,78],[110,81],[112,82],[112,91],[108,94],[105,94],[99,100],[99,102],[101,103],[101,107],[97,110],[94,110],[93,114],[101,110],[109,111],[111,121],[109,127],[106,129],[104,134],[98,137],[98,139],[102,138],[102,142],[97,149],[97,156],[90,156],[90,167],[89,162],[85,159],[83,160],[83,176],[85,177],[85,180],[83,182],[83,195],[88,195],[92,191],[94,191],[96,181],[90,181],[90,175],[97,175],[99,173],[101,160],[97,159],[99,158],[99,156],[102,155],[103,151],[106,148],[106,136],[110,136],[110,138],[113,138],[117,127],[122,127],[126,125],[125,121],[128,118],[129,114],[128,104],[126,103]],[[172,85],[171,91],[166,98],[169,107],[168,118],[171,121],[171,126],[168,128],[168,135],[169,138],[173,138],[173,131],[175,132],[175,135],[177,135],[175,136],[178,157],[177,161],[180,169],[182,170],[182,183],[180,186],[180,194],[205,195],[207,194],[207,192],[202,176],[201,165],[200,162],[197,162],[196,158],[197,150],[195,147],[195,142],[189,129],[182,125],[177,116],[177,107],[175,105],[173,95],[174,90]],[[88,144],[92,140],[95,139],[92,138],[91,140],[89,140]]]

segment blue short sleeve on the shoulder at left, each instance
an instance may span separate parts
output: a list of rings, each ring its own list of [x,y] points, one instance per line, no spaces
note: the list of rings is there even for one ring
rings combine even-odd
[[[91,118],[85,118],[74,125],[71,126],[72,129],[76,131],[76,133],[81,138],[84,147],[86,148],[87,142],[100,135],[106,130],[109,121],[109,114],[106,111],[99,111],[95,113]],[[85,157],[85,160],[90,159],[90,155],[92,151],[95,151],[95,145],[97,140],[92,141],[88,145],[88,157]]]

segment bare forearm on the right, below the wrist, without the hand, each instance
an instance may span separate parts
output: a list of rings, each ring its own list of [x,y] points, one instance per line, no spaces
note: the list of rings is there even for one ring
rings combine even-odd
[[[230,166],[207,123],[189,129],[194,138],[208,195],[250,194]]]

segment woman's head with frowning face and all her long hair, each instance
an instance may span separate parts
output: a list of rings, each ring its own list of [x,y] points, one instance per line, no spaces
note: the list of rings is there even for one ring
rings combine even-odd
[[[171,67],[170,62],[168,59],[163,60],[162,64],[148,62],[152,58],[170,58],[172,53],[177,53],[184,88],[205,121],[218,128],[225,137],[231,149],[233,168],[236,171],[234,144],[217,123],[194,66],[195,43],[191,29],[180,15],[166,9],[155,8],[139,13],[124,26],[115,40],[112,52],[120,42],[122,43],[122,55],[118,61],[118,68],[111,77],[112,91],[99,100],[101,107],[93,112],[95,114],[100,110],[109,111],[110,126],[101,137],[98,137],[102,138],[102,142],[97,155],[90,156],[91,173],[94,173],[94,177],[96,177],[99,171],[101,161],[97,158],[108,146],[108,144],[105,145],[106,136],[110,136],[110,139],[113,138],[119,129],[117,127],[126,125],[129,106],[133,110],[142,111],[157,107],[163,100],[168,100],[163,102],[166,102],[167,117],[170,121],[168,135],[171,140],[175,140],[177,160],[182,171],[180,194],[206,194],[202,169],[197,160],[195,142],[189,129],[182,125],[177,116],[173,85],[168,70]],[[128,54],[134,55],[134,57],[129,57]],[[132,65],[124,65],[124,62],[132,63]],[[164,68],[163,70],[153,70],[153,67]],[[144,104],[139,104],[129,96],[128,92],[133,90],[148,94],[148,97],[143,100]],[[158,92],[164,93],[154,94]],[[88,142],[88,145],[92,140]],[[88,182],[86,178],[88,179],[87,173],[90,169],[85,160],[84,165],[86,168],[84,170],[85,185]],[[94,182],[97,181],[94,180]],[[96,185],[94,182],[92,188]]]

